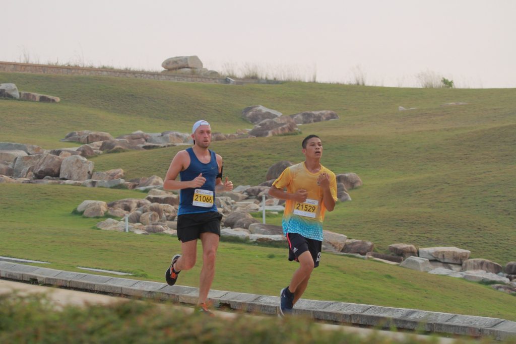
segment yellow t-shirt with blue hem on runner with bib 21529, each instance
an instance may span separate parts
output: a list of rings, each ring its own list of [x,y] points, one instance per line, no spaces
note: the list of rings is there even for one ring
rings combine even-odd
[[[293,200],[286,201],[282,221],[284,234],[298,233],[305,238],[323,240],[322,221],[324,221],[326,207],[322,202],[324,192],[317,185],[317,178],[321,173],[329,175],[331,195],[337,201],[335,173],[322,165],[319,172],[311,173],[304,162],[300,162],[297,165],[287,167],[272,183],[272,187],[281,190],[286,188],[289,193],[294,193],[299,189],[305,189],[308,192],[307,201],[304,203]]]

